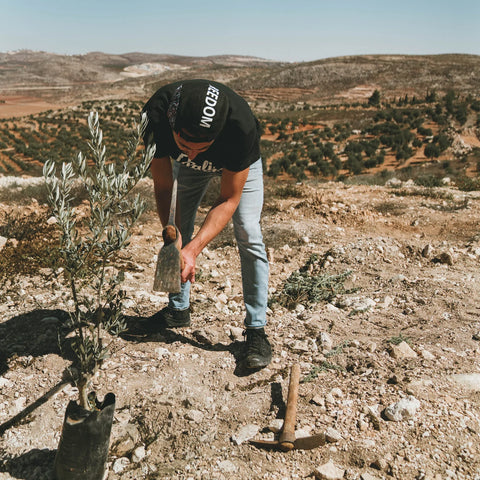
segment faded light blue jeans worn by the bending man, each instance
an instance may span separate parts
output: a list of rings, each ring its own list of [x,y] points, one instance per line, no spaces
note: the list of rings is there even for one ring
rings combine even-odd
[[[193,170],[173,162],[178,178],[180,232],[184,245],[192,238],[195,216],[210,180],[218,173]],[[250,166],[237,210],[233,214],[235,239],[240,253],[243,301],[247,328],[264,327],[268,300],[269,266],[260,228],[263,207],[262,160]],[[190,305],[190,282],[182,283],[180,293],[169,295],[169,307],[185,310]]]

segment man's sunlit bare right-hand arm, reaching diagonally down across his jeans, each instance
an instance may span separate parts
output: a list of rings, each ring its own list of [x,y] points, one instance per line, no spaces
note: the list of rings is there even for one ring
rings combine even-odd
[[[182,282],[195,280],[195,261],[198,254],[215,238],[232,218],[240,202],[249,169],[233,172],[223,169],[220,195],[208,212],[197,235],[182,249],[185,267]]]

